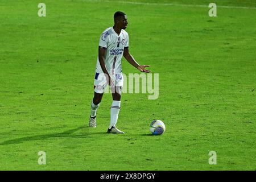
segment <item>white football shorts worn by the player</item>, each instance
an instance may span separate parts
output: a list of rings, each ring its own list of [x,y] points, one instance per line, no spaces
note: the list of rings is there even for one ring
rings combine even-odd
[[[110,75],[115,81],[115,86],[123,86],[123,75],[122,73],[117,73],[115,75]],[[96,93],[104,93],[104,90],[107,86],[106,76],[104,73],[95,73],[94,77],[94,92]]]

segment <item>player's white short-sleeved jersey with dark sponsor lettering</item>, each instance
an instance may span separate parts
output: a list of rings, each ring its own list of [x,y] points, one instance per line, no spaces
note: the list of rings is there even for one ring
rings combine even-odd
[[[125,47],[129,46],[129,36],[125,30],[120,34],[114,31],[113,27],[107,28],[100,38],[99,46],[106,48],[105,65],[110,75],[122,73],[121,59]],[[96,72],[103,73],[100,61],[97,59]]]

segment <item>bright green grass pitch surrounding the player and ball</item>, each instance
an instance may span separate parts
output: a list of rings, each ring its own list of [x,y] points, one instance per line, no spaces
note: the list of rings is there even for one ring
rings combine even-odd
[[[256,2],[214,1],[210,17],[212,1],[138,1],[45,0],[46,17],[42,1],[0,2],[1,170],[256,169]],[[88,127],[98,40],[118,10],[131,54],[159,73],[157,100],[122,95],[125,135],[106,133],[111,94]]]

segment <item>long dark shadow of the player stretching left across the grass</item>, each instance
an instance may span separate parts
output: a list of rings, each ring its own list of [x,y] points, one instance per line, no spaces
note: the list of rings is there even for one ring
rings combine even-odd
[[[76,131],[84,129],[84,128],[86,128],[86,127],[80,126],[80,127],[77,127],[76,129],[64,131],[63,133],[34,135],[31,137],[22,137],[22,138],[17,138],[17,139],[6,140],[5,142],[0,143],[0,145],[16,144],[16,143],[27,142],[27,141],[31,141],[31,140],[44,140],[44,139],[51,139],[51,138],[56,139],[56,138],[63,138],[63,137],[84,138],[86,135],[106,134],[103,132],[97,132],[97,133],[83,133],[82,135],[72,135]]]

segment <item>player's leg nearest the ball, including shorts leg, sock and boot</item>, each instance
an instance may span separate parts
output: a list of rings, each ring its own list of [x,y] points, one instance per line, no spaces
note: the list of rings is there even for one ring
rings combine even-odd
[[[117,129],[117,127],[115,127],[115,125],[117,125],[118,114],[121,107],[121,92],[123,86],[122,77],[119,77],[119,79],[115,80],[115,82],[116,86],[111,89],[113,102],[110,109],[110,125],[108,133],[124,134],[123,131],[120,131]]]

